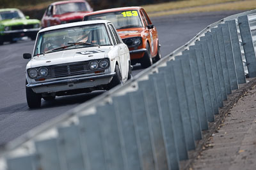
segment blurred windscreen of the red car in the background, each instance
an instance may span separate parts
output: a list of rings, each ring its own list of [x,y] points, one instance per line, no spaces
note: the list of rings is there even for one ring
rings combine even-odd
[[[56,5],[56,15],[70,12],[88,11],[85,3],[65,3]]]

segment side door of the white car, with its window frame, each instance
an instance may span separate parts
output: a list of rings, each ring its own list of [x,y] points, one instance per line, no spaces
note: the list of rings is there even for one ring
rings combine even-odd
[[[121,72],[122,72],[122,79],[123,81],[125,81],[125,79],[128,78],[128,62],[127,62],[127,46],[125,46],[123,43],[122,43],[122,40],[120,38],[120,36],[118,35],[118,33],[116,32],[116,29],[114,27],[113,24],[109,24],[113,33],[114,33],[114,36],[115,36],[115,39],[116,39],[116,43],[119,47],[119,50],[120,50],[120,53],[119,53],[119,60],[120,60],[120,69],[121,69]]]

